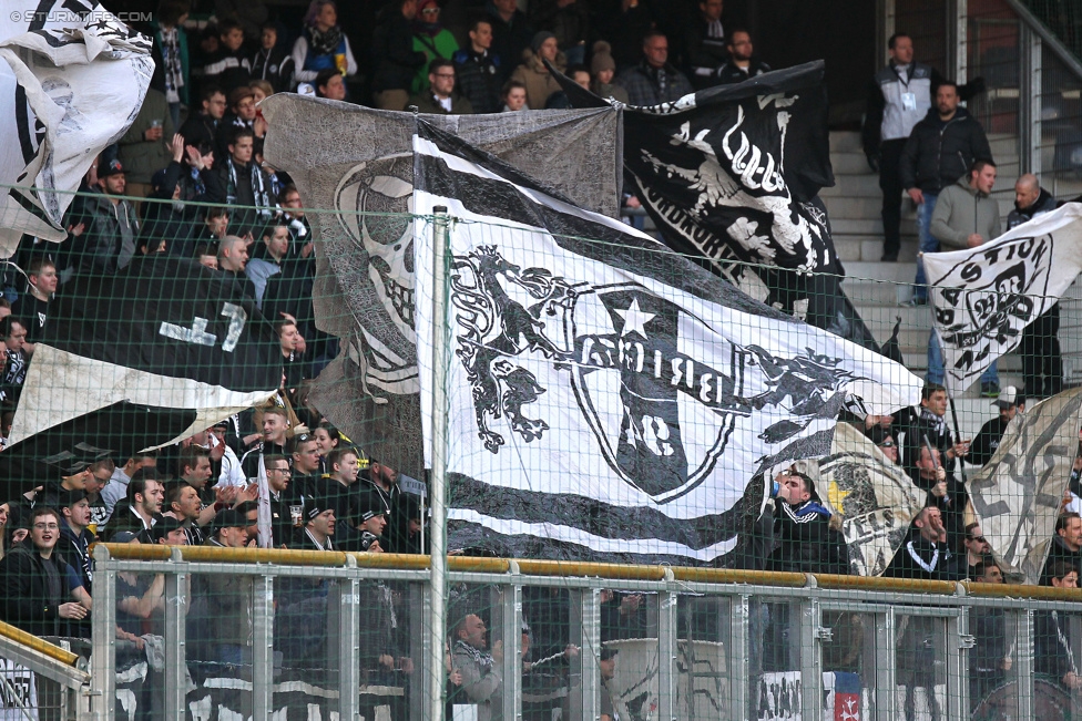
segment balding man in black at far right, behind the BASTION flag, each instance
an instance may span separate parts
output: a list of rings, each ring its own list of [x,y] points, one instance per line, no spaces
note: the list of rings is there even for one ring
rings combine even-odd
[[[1055,209],[1055,198],[1041,187],[1035,175],[1027,173],[1014,183],[1014,209],[1007,216],[1007,229],[1015,228]],[[1022,384],[1034,399],[1063,390],[1063,358],[1060,354],[1060,303],[1037,317],[1022,331]]]

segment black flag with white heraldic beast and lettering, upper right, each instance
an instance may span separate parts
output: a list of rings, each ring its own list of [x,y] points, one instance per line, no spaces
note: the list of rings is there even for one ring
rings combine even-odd
[[[575,107],[606,101],[552,69]],[[824,64],[810,62],[623,112],[625,188],[665,244],[731,274],[754,264],[767,302],[806,298],[817,328],[878,350],[840,288],[845,269],[818,197],[834,185]]]

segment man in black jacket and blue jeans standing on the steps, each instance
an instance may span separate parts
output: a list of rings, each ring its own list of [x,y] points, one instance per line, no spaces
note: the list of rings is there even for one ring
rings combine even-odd
[[[958,106],[958,85],[940,83],[936,107],[917,123],[901,153],[899,173],[906,193],[917,204],[917,227],[921,253],[937,253],[939,240],[931,235],[931,214],[939,194],[969,173],[974,161],[991,161],[984,130],[964,107]],[[928,302],[925,268],[917,264],[913,305]]]

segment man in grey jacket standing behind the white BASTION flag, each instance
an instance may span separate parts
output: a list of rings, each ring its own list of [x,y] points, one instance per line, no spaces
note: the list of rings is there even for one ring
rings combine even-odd
[[[943,188],[931,215],[930,231],[945,251],[976,248],[1000,235],[999,204],[989,197],[996,185],[996,164],[976,161],[969,175]],[[928,343],[928,380],[942,383],[943,358],[932,331]],[[981,375],[981,394],[999,395],[996,363]]]

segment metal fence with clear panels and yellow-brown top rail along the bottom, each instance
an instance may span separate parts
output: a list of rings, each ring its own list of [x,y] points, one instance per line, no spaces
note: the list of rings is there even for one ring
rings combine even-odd
[[[554,719],[557,709],[595,719],[610,704],[620,718],[681,720],[1057,719],[1082,710],[1050,678],[1042,636],[1053,619],[1068,650],[1082,652],[1078,591],[452,558],[450,607],[467,602],[489,629],[489,648],[503,650],[499,688],[477,702],[451,680],[462,671],[457,655],[427,666],[429,637],[416,625],[432,601],[426,558],[122,545],[100,545],[95,557],[86,718],[425,719],[432,697],[448,718],[481,719]],[[164,579],[153,616],[164,657],[142,678],[115,634],[118,579],[132,574]],[[229,662],[210,660],[200,647],[213,639],[192,635],[198,588],[213,578],[243,587],[243,604],[229,608],[247,616],[251,638]],[[327,591],[326,614],[313,612],[305,629],[303,667],[289,642],[298,629],[282,622],[297,584]],[[379,586],[405,611],[408,672],[366,669],[366,589]],[[640,599],[636,610],[613,615],[629,605],[613,599],[624,598]],[[530,648],[542,606],[579,649],[549,669]],[[133,698],[147,708],[131,707]]]

